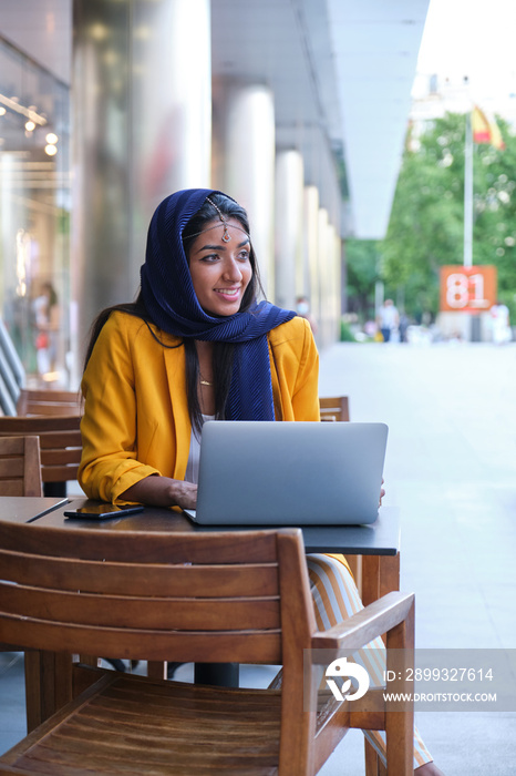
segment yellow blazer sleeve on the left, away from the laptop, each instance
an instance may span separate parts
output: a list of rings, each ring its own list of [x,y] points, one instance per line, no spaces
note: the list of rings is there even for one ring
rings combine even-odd
[[[135,482],[159,473],[137,460],[134,341],[130,341],[135,327],[127,318],[123,314],[110,316],[95,343],[81,386],[84,416],[79,483],[89,498],[113,503],[123,503],[120,494]]]

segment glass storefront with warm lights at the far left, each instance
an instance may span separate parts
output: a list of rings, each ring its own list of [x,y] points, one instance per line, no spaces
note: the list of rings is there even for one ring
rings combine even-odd
[[[0,37],[0,307],[30,386],[69,386],[70,213],[70,88]]]

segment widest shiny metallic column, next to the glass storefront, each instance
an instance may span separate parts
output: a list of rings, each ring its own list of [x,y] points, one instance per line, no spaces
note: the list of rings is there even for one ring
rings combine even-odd
[[[73,0],[74,361],[102,308],[131,300],[152,212],[210,182],[209,0]]]

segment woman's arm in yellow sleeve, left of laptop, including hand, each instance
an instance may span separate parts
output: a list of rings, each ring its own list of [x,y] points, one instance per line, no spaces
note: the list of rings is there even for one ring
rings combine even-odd
[[[142,360],[142,354],[149,349],[146,331],[140,319],[115,313],[99,336],[82,382],[85,401],[79,481],[90,498],[102,501],[192,507],[195,487],[162,477],[159,463],[149,463],[149,451],[163,449],[162,443],[153,445],[153,429],[166,426],[167,417],[154,394],[142,399],[142,390],[156,379],[152,367]],[[173,429],[166,436],[173,438]],[[162,458],[169,461],[174,455],[172,446]]]

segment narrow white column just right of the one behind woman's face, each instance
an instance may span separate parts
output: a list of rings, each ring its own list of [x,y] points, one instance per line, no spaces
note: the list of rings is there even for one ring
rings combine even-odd
[[[276,304],[296,308],[303,293],[303,164],[299,151],[276,159]]]

